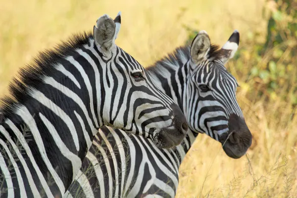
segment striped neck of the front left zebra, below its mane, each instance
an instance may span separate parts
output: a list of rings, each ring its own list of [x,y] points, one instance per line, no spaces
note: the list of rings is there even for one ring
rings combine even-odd
[[[29,77],[23,76],[27,84],[12,87],[17,101],[7,99],[0,144],[6,143],[9,152],[16,153],[18,163],[23,166],[21,171],[35,170],[24,174],[36,192],[45,190],[49,196],[50,191],[58,189],[64,193],[102,126],[101,118],[96,116],[102,114],[99,107],[103,101],[97,92],[100,87],[91,86],[101,85],[94,72],[100,66],[88,61],[91,57],[87,56],[92,53],[81,46],[60,58],[50,72],[41,68],[48,73],[27,73],[36,81],[30,82]],[[41,185],[34,187],[33,180]]]

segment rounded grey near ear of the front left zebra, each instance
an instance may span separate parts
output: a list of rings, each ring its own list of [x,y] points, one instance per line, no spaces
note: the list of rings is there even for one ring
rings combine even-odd
[[[112,18],[104,14],[97,20],[97,27],[94,26],[93,34],[97,45],[105,51],[110,51],[114,45],[116,26]]]

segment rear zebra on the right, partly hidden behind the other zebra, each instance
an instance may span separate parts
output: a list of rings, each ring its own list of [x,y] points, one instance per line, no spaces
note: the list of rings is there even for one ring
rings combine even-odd
[[[154,83],[186,115],[190,130],[184,141],[162,149],[144,137],[103,127],[64,198],[174,198],[179,166],[198,133],[222,143],[229,157],[243,156],[252,136],[235,97],[238,83],[224,66],[239,39],[234,31],[219,49],[200,31],[191,47],[177,48],[148,67]]]

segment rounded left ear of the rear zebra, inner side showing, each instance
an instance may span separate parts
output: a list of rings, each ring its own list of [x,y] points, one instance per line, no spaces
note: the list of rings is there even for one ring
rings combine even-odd
[[[194,38],[191,45],[191,59],[195,63],[206,58],[210,49],[210,39],[206,31],[200,31]]]

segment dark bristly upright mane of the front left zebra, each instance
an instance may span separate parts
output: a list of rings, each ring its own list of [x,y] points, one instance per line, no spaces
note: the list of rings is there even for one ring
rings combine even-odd
[[[18,78],[13,77],[8,85],[9,94],[0,99],[0,110],[4,118],[5,115],[14,111],[18,103],[29,98],[28,87],[37,88],[41,86],[43,77],[52,74],[52,67],[56,63],[73,53],[75,49],[86,44],[90,45],[89,41],[92,38],[91,32],[74,34],[52,49],[39,52],[33,61],[20,68],[17,73]]]

